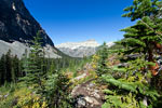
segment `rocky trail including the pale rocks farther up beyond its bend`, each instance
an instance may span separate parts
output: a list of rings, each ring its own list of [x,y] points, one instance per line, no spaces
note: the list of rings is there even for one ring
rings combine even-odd
[[[87,63],[78,71],[81,75],[71,79],[72,83],[87,79],[91,76],[90,71],[94,71],[94,68]],[[71,96],[75,98],[75,108],[102,108],[105,95],[95,81],[96,78],[91,77],[72,89]]]

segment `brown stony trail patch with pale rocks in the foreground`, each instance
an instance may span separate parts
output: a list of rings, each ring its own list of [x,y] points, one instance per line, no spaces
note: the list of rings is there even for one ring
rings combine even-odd
[[[77,108],[102,108],[104,94],[91,79],[73,87],[71,96],[76,98]]]

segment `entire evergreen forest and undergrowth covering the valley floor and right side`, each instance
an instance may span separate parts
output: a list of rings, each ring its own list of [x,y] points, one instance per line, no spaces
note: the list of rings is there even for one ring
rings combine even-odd
[[[2,55],[0,108],[161,108],[162,1],[133,0],[124,12],[135,24],[121,29],[122,40],[111,48],[103,43],[90,57],[45,58],[39,32],[22,58],[11,51]],[[100,103],[76,91],[87,83]]]

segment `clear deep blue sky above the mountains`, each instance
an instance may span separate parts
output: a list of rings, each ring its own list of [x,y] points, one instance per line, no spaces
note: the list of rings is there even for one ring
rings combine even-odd
[[[133,25],[121,17],[132,0],[24,0],[54,44],[95,39],[98,43],[123,38]]]

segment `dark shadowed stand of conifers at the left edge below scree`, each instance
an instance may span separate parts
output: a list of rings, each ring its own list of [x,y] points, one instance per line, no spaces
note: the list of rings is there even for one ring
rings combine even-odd
[[[16,55],[12,56],[9,50],[0,58],[0,85],[5,82],[17,82],[18,78],[23,77],[22,69],[22,62]]]

